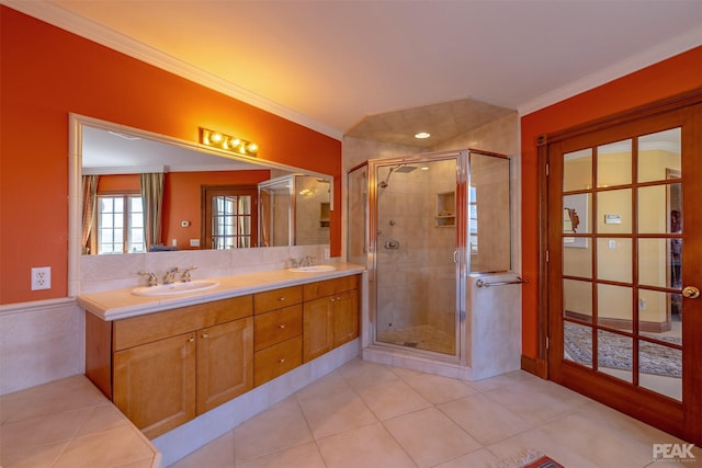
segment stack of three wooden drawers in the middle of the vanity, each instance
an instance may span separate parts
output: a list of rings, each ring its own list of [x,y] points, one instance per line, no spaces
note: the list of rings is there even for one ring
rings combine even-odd
[[[302,286],[253,295],[253,385],[256,387],[303,363],[302,300]]]

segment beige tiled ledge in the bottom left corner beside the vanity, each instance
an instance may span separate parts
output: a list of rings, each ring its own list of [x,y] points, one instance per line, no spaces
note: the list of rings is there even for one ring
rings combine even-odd
[[[4,468],[150,468],[160,455],[82,375],[0,397]]]

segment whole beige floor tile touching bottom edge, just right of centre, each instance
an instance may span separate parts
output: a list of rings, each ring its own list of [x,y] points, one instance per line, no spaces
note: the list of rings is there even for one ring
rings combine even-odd
[[[383,424],[422,468],[480,448],[475,438],[433,407],[393,418]]]

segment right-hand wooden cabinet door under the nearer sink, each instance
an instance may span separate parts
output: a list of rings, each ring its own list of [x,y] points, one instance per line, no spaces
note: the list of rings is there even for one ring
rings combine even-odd
[[[197,331],[197,414],[253,388],[253,319]]]

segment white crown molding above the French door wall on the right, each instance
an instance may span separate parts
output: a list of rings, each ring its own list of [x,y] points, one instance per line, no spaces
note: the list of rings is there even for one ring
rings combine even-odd
[[[702,45],[702,26],[517,106],[524,116]]]

